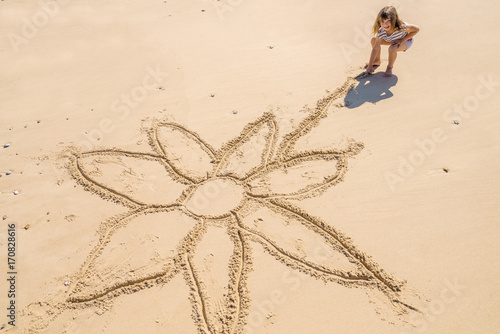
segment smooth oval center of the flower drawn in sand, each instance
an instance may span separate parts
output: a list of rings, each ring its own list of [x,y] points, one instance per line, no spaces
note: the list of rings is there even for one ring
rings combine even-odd
[[[213,179],[199,185],[185,205],[196,215],[218,217],[236,208],[243,200],[243,194],[243,187],[235,181]]]

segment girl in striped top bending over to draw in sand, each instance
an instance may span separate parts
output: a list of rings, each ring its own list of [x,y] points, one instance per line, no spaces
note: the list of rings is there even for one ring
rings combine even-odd
[[[373,49],[370,61],[366,64],[366,72],[371,74],[380,66],[380,46],[390,45],[389,64],[387,64],[384,74],[384,76],[390,77],[398,51],[408,50],[413,44],[413,36],[419,30],[416,25],[401,21],[396,8],[393,6],[382,8],[373,24],[373,34],[375,37],[371,41]]]

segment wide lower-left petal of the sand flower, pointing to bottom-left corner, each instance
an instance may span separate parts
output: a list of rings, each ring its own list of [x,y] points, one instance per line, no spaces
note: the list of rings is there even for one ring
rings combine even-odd
[[[178,205],[173,205],[166,209],[141,208],[106,221],[100,228],[101,237],[98,244],[80,270],[80,274],[74,279],[68,302],[85,303],[101,298],[113,298],[121,293],[127,293],[131,287],[132,290],[141,290],[166,283],[173,278],[180,269],[179,254],[184,248],[191,246],[193,238],[200,229],[200,222],[194,217],[189,217],[189,220],[182,219],[180,222],[181,225],[185,225],[185,231],[180,230],[179,226],[169,229],[170,226],[165,224],[161,216],[170,214],[187,217]],[[141,223],[141,219],[146,215],[148,228],[144,228]],[[157,215],[157,221],[149,223],[151,215]],[[188,223],[191,226],[188,226]],[[176,234],[175,240],[171,239],[173,234]],[[147,252],[127,251],[130,247],[137,248],[138,242],[139,246],[145,243],[150,245],[156,243],[157,246],[148,249]],[[101,256],[104,257],[104,262]],[[110,261],[110,258],[115,260]],[[131,266],[133,262],[135,265]],[[127,275],[129,276],[123,277]]]

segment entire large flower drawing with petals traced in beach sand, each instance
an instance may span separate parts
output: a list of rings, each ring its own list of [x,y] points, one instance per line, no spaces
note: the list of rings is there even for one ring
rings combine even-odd
[[[66,309],[98,304],[105,310],[120,295],[166,284],[182,273],[198,331],[241,333],[250,305],[254,244],[315,278],[380,291],[394,307],[418,311],[401,301],[403,282],[336,228],[290,201],[341,182],[348,160],[363,149],[351,142],[342,150],[295,151],[298,139],[353,83],[349,78],[318,101],[279,145],[276,117],[265,113],[218,150],[180,124],[156,121],[147,130],[152,153],[72,152],[69,170],[77,183],[130,210],[101,224],[99,241],[73,275],[64,301],[45,304],[50,316],[32,331],[47,327]],[[307,177],[311,171],[322,177]],[[318,245],[321,257],[314,254]]]

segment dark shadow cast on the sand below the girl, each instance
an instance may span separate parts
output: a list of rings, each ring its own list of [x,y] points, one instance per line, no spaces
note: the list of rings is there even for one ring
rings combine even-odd
[[[368,75],[364,78],[356,79],[358,85],[351,89],[344,98],[347,108],[354,109],[365,102],[377,103],[378,101],[392,97],[389,90],[398,82],[398,77],[384,77],[384,72]]]

